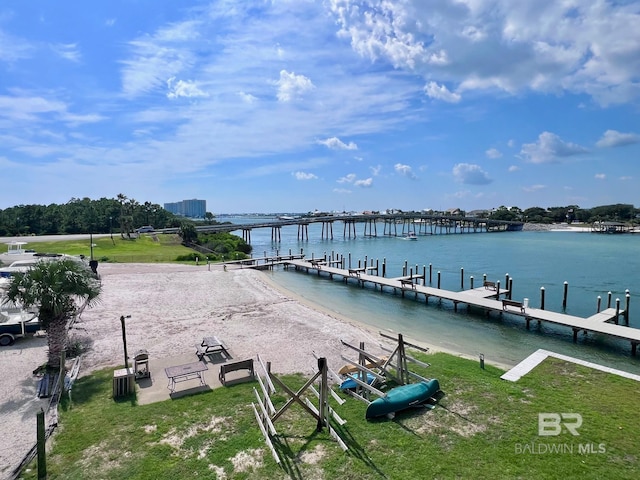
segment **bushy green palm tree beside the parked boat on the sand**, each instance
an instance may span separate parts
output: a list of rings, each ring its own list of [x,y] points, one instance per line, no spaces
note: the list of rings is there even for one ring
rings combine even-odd
[[[26,272],[15,273],[6,287],[4,303],[35,307],[49,346],[48,366],[60,369],[67,346],[69,321],[83,307],[97,303],[100,281],[75,260],[43,260]]]

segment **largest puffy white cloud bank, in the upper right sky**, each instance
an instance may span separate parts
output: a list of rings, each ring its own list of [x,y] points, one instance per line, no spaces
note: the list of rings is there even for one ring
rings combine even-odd
[[[634,1],[331,0],[330,8],[357,54],[455,84],[458,94],[565,91],[602,105],[640,97]]]

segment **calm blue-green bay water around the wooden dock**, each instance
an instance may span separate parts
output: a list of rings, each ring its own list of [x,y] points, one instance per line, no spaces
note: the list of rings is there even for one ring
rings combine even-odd
[[[253,223],[264,218],[236,217],[234,223]],[[568,283],[566,313],[588,317],[596,312],[597,297],[606,307],[608,292],[612,306],[619,298],[625,306],[625,290],[631,295],[630,326],[640,328],[640,236],[597,235],[576,232],[504,232],[480,234],[450,234],[420,236],[418,241],[406,241],[382,235],[364,237],[362,224],[357,238],[344,238],[341,222],[335,222],[333,240],[321,239],[321,225],[309,226],[309,240],[298,241],[297,227],[283,227],[281,241],[271,241],[270,229],[251,232],[254,256],[276,251],[303,251],[307,258],[335,252],[351,255],[352,264],[358,260],[386,259],[387,277],[402,275],[405,261],[409,267],[423,266],[429,272],[432,265],[433,283],[441,274],[441,287],[460,290],[461,277],[465,288],[470,276],[475,286],[488,280],[513,278],[513,298],[529,298],[530,305],[540,306],[541,287],[545,290],[545,308],[562,311],[564,282]],[[464,275],[461,275],[464,269]],[[570,328],[548,324],[531,324],[526,330],[519,317],[491,315],[461,307],[456,313],[448,302],[431,299],[425,305],[423,297],[414,301],[407,295],[402,299],[391,293],[381,294],[372,288],[328,277],[310,275],[294,270],[275,270],[267,273],[281,286],[294,291],[324,308],[330,309],[380,330],[401,332],[407,337],[467,355],[483,354],[486,361],[515,364],[538,348],[571,355],[621,370],[640,374],[640,355],[632,357],[630,345],[608,337],[580,334],[577,344],[572,341]],[[637,313],[636,313],[637,312]]]

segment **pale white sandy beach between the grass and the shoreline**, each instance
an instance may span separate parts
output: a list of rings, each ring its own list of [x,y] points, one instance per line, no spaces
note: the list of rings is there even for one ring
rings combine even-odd
[[[249,269],[225,272],[220,266],[102,264],[101,303],[85,310],[71,337],[91,339],[82,358],[80,376],[123,363],[121,315],[126,320],[127,347],[132,357],[146,349],[153,358],[195,352],[194,344],[215,334],[236,359],[259,354],[275,373],[315,372],[315,352],[338,369],[345,355],[341,345],[364,341],[381,354],[382,337],[363,325],[310,308],[300,299],[274,288],[266,276]],[[195,360],[195,355],[194,355]],[[46,361],[46,339],[17,340],[0,349],[0,478],[8,478],[35,443],[36,413],[47,399],[36,396],[32,371]]]

